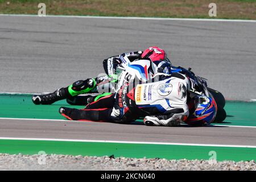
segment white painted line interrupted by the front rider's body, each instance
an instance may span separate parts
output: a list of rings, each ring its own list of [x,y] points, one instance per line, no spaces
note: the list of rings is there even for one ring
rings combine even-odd
[[[67,120],[67,119],[33,119],[33,118],[0,118],[0,119],[27,120],[27,121],[67,121],[67,122],[79,122],[79,123],[84,122],[84,121],[73,121],[73,120]],[[88,122],[93,122],[93,121],[88,121]],[[181,125],[185,125],[185,124],[181,124]],[[240,125],[210,125],[210,126],[246,127],[246,128],[253,128],[253,129],[256,128],[256,126],[240,126]]]

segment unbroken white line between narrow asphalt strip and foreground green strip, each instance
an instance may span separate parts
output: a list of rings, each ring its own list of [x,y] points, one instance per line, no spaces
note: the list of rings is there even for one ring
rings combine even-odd
[[[199,143],[166,143],[166,142],[134,142],[117,140],[83,140],[83,139],[55,139],[55,138],[13,138],[0,137],[2,140],[37,140],[37,141],[56,141],[56,142],[96,142],[96,143],[127,143],[127,144],[164,144],[177,146],[205,146],[205,147],[243,147],[256,148],[256,146],[226,145],[226,144],[199,144]]]

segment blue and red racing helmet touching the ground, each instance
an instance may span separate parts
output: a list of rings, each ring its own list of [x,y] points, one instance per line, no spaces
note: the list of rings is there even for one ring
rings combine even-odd
[[[209,125],[213,122],[217,113],[217,105],[214,98],[207,96],[195,96],[192,98],[192,109],[185,120],[188,125]]]

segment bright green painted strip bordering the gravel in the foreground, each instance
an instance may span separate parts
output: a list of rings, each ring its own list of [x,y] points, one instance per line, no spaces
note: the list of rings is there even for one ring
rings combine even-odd
[[[11,146],[11,147],[10,147]],[[0,140],[0,153],[110,156],[126,158],[162,159],[212,159],[216,160],[256,160],[256,148],[180,146],[166,144],[133,144],[102,142],[61,142],[46,140]]]

